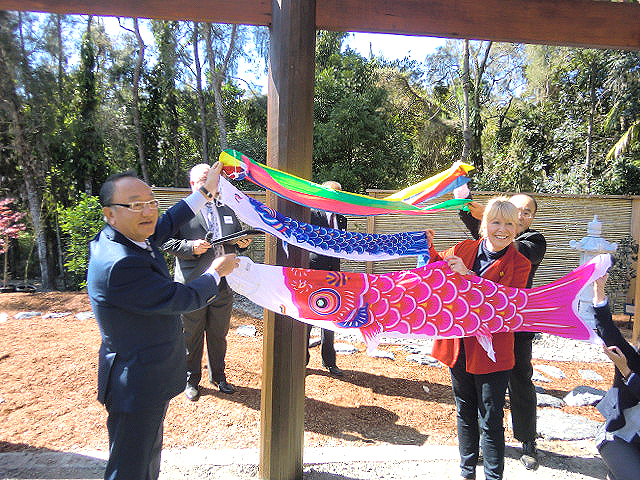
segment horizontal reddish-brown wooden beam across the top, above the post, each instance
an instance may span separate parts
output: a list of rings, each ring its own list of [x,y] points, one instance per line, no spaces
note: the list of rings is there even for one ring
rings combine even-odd
[[[0,0],[0,10],[271,24],[269,0]],[[621,49],[640,49],[638,19],[638,3],[597,0],[317,0],[316,6],[316,28],[333,31]]]

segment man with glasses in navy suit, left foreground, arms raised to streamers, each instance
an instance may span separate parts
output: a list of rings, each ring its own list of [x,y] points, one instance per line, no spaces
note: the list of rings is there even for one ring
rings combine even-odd
[[[107,225],[90,243],[87,290],[102,336],[98,400],[107,409],[105,479],[153,480],[160,472],[162,425],[169,400],[184,388],[179,314],[206,304],[235,255],[216,258],[182,285],[169,276],[157,244],[204,206],[218,189],[221,165],[194,193],[158,217],[151,188],[133,172],[109,177],[100,190]]]

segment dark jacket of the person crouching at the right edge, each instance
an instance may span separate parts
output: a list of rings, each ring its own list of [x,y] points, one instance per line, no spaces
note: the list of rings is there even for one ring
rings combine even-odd
[[[635,375],[629,379],[627,385],[620,371],[616,368],[613,386],[597,407],[606,420],[605,428],[613,432],[622,428],[626,421],[623,411],[640,403],[640,354],[624,339],[620,330],[613,323],[609,305],[595,308],[596,330],[607,346],[616,345],[624,356],[627,365]]]

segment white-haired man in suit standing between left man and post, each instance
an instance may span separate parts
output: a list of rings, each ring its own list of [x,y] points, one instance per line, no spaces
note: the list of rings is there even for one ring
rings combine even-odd
[[[197,192],[207,179],[209,166],[196,165],[189,174],[191,190]],[[251,239],[242,238],[232,243],[211,245],[216,240],[242,230],[242,225],[229,207],[207,202],[205,208],[189,222],[183,224],[176,235],[162,246],[175,255],[174,279],[185,283],[204,272],[214,258],[225,253],[238,253],[246,249]],[[205,239],[205,237],[207,239]],[[202,353],[204,336],[207,337],[207,365],[209,381],[222,393],[232,394],[235,388],[227,382],[224,373],[224,357],[227,353],[227,333],[233,309],[233,291],[223,278],[218,285],[218,295],[204,307],[183,313],[184,336],[187,347],[187,380],[184,393],[191,401],[198,400],[198,385],[202,377]]]

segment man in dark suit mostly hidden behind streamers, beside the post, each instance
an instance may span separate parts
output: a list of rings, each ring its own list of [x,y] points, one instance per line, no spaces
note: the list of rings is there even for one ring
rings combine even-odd
[[[322,184],[334,190],[342,190],[342,186],[338,182],[326,181]],[[347,229],[347,218],[344,215],[325,212],[324,210],[311,210],[312,225],[320,227],[337,228],[340,230]],[[340,259],[338,257],[328,257],[317,253],[309,253],[309,268],[314,270],[330,270],[333,272],[340,271]],[[309,337],[311,336],[311,325],[307,325],[307,363],[309,363]],[[329,373],[341,377],[344,372],[336,365],[336,349],[333,346],[335,333],[333,330],[322,328],[320,330],[320,345],[322,352],[322,366]]]

